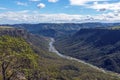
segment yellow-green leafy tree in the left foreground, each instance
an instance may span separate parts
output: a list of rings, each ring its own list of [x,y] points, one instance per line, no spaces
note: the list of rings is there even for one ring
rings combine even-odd
[[[34,54],[28,43],[22,38],[0,37],[0,72],[2,80],[33,77],[32,74],[38,67],[37,59],[38,56]]]

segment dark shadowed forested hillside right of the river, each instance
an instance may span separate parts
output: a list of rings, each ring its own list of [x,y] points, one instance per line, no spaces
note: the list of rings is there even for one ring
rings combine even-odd
[[[57,49],[69,56],[120,73],[120,30],[81,29],[56,39]]]

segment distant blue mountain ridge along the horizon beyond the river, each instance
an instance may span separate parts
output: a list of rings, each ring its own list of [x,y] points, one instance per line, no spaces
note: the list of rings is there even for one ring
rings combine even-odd
[[[79,31],[81,28],[108,28],[120,26],[120,23],[40,23],[15,24],[9,26],[25,28],[34,34],[55,37],[64,34],[73,34]]]

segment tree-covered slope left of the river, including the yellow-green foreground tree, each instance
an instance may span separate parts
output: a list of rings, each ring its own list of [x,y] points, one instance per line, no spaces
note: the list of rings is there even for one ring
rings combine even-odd
[[[49,38],[20,30],[24,37],[19,29],[1,30],[0,80],[120,80],[114,73],[59,57],[48,51]]]

